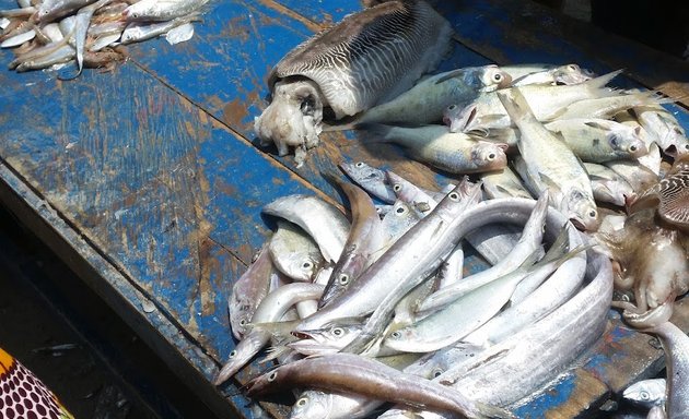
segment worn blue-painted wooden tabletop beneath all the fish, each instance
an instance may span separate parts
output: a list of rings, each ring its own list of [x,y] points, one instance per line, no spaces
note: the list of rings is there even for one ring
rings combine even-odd
[[[686,63],[530,2],[516,4],[441,2],[457,35],[439,71],[490,62],[577,62],[598,73],[623,67],[619,86],[672,84],[665,93],[685,95]],[[11,7],[0,0],[0,8]],[[271,65],[360,8],[354,0],[214,1],[190,41],[130,46],[130,61],[112,73],[85,71],[60,82],[51,72],[0,72],[0,199],[220,416],[260,416],[236,382],[217,390],[209,380],[235,346],[226,299],[269,234],[262,205],[292,193],[341,204],[320,172],[338,172],[344,159],[392,168],[427,188],[452,180],[395,146],[366,146],[353,133],[324,134],[301,168],[293,157],[255,145],[253,120],[266,106]],[[0,53],[3,62],[10,57]],[[687,112],[670,108],[689,128]],[[521,416],[595,409],[630,379],[657,371],[662,351],[649,344],[652,338],[610,316],[583,367],[521,408]]]

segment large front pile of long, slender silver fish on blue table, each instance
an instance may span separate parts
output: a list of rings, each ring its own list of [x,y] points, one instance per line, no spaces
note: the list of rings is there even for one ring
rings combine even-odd
[[[215,384],[270,345],[280,367],[247,392],[300,388],[292,418],[509,418],[602,336],[609,261],[547,192],[483,201],[466,177],[427,191],[364,163],[341,167],[394,204],[330,177],[351,223],[316,196],[264,207],[277,229],[234,285],[240,343]],[[463,277],[469,240],[493,265]]]

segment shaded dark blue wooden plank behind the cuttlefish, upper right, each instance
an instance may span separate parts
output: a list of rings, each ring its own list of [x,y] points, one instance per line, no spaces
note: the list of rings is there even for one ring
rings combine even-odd
[[[597,72],[627,69],[646,87],[689,104],[689,63],[534,1],[439,2],[437,8],[462,43],[497,62],[537,62],[546,56]]]

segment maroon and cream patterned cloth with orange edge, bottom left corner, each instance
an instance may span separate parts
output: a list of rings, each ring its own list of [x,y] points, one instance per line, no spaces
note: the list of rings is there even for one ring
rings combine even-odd
[[[33,372],[0,348],[0,418],[73,419]]]

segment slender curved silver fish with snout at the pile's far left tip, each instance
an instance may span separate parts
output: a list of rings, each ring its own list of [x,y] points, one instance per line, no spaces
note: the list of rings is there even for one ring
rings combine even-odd
[[[252,324],[275,323],[299,301],[320,298],[323,289],[324,287],[317,284],[294,283],[283,285],[262,299],[254,312]],[[213,384],[220,385],[240,371],[268,344],[270,337],[271,333],[269,331],[249,325],[242,340],[230,352],[227,362],[213,379]]]

